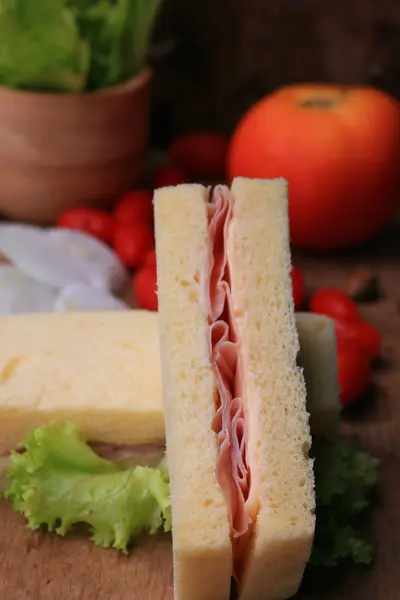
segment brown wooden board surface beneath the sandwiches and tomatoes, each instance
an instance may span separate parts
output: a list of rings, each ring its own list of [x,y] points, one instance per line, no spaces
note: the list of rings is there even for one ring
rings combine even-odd
[[[400,232],[352,256],[296,257],[312,287],[344,285],[349,272],[377,272],[384,296],[364,316],[383,333],[383,364],[362,405],[343,415],[343,434],[381,460],[380,501],[372,519],[372,569],[325,572],[304,600],[400,599]],[[0,600],[172,600],[171,541],[144,539],[129,557],[79,538],[31,533],[0,502]],[[300,600],[299,597],[299,600]],[[260,599],[262,600],[262,599]]]

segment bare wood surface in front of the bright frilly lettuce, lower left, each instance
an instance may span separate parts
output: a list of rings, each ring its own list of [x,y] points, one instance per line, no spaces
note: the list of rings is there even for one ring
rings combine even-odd
[[[82,539],[31,533],[0,503],[1,600],[172,600],[171,540],[143,540],[129,557]]]

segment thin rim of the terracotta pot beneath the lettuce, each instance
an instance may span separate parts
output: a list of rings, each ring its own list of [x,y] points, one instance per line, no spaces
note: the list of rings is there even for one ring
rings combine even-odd
[[[36,100],[43,99],[48,101],[51,99],[55,104],[57,102],[64,103],[66,100],[70,101],[73,99],[77,102],[84,102],[85,100],[99,98],[99,97],[115,97],[121,96],[124,94],[132,94],[132,92],[138,91],[144,87],[146,87],[152,78],[153,72],[150,67],[143,67],[141,71],[134,77],[131,77],[127,81],[122,83],[118,83],[117,85],[112,85],[107,88],[103,88],[101,90],[96,90],[94,92],[84,92],[83,94],[73,94],[73,93],[57,93],[57,92],[32,92],[29,90],[19,90],[8,88],[6,86],[0,86],[0,98],[1,96],[8,96],[10,99],[12,96],[18,96],[23,100]]]

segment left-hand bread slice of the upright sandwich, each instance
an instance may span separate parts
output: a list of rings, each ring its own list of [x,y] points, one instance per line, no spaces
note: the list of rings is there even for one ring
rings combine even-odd
[[[154,195],[175,600],[226,600],[232,573],[211,427],[215,383],[203,295],[206,198],[200,185],[163,188]]]

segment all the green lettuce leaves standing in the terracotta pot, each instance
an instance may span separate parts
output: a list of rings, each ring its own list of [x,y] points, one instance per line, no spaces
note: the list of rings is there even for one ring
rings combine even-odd
[[[161,0],[0,0],[0,86],[84,92],[136,75]]]

